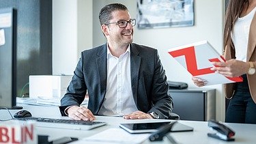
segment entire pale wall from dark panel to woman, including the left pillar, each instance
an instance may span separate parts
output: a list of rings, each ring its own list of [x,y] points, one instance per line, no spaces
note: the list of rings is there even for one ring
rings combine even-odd
[[[106,42],[100,30],[100,23],[98,22],[98,13],[104,5],[107,3],[123,3],[130,10],[132,18],[136,18],[137,16],[137,0],[86,0],[83,3],[81,1],[53,0],[53,74],[72,73],[80,57],[78,54],[80,51]],[[84,11],[80,11],[82,7]],[[61,11],[58,10],[60,8]],[[76,17],[74,22],[73,20],[69,20],[73,13],[77,13],[76,10],[84,14],[80,16],[86,16],[86,29],[85,27],[75,28],[77,23],[74,23],[79,22],[81,20],[80,17]],[[175,46],[208,40],[219,53],[222,53],[223,12],[223,0],[197,0],[195,1],[195,25],[193,27],[165,29],[137,29],[137,27],[134,27],[134,42],[158,49],[162,65],[170,81],[183,81],[188,83],[189,87],[195,87],[192,81],[190,81],[191,76],[188,72],[171,58],[167,51],[169,48]],[[65,16],[65,18],[62,16]],[[73,14],[73,16],[78,15]],[[59,17],[63,20],[61,21],[62,27],[59,27],[59,20],[57,20]],[[88,23],[90,21],[92,24]],[[71,27],[70,29],[67,28],[69,25]],[[90,29],[92,30],[90,31]],[[76,34],[78,31],[81,33],[79,37]],[[64,36],[67,37],[67,33],[68,38],[63,38]],[[83,40],[81,45],[77,44],[76,38],[81,41]],[[67,40],[72,41],[72,44],[67,42]],[[225,115],[225,98],[223,96],[222,85],[213,85],[205,88],[216,89],[216,119],[223,121]]]

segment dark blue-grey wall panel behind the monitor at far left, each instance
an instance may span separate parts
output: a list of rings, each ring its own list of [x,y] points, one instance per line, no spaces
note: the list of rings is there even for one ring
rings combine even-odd
[[[26,87],[29,75],[52,73],[51,5],[51,0],[0,0],[0,8],[16,9],[16,61],[13,64],[17,72],[13,83],[18,97],[29,93]],[[7,82],[0,78],[0,83]]]

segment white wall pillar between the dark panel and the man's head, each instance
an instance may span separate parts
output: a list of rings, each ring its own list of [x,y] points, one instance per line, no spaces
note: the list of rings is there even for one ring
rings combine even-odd
[[[53,0],[53,74],[73,74],[92,46],[92,0]]]

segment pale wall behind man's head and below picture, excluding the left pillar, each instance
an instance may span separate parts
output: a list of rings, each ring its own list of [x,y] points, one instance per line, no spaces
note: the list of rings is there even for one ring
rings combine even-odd
[[[98,12],[107,3],[123,3],[130,11],[132,18],[137,16],[137,0],[117,1],[105,0],[94,1],[94,39],[93,45],[98,46],[106,42],[100,31]],[[182,81],[189,87],[196,87],[191,80],[190,74],[182,68],[167,53],[169,48],[190,44],[200,40],[208,40],[219,53],[222,53],[223,43],[223,0],[197,0],[195,1],[195,25],[193,27],[175,27],[164,29],[137,29],[134,27],[134,42],[152,46],[158,49],[162,65],[170,81]],[[225,98],[222,85],[212,85],[205,88],[216,89],[216,119],[224,120]],[[175,103],[174,103],[175,104]],[[175,107],[175,106],[174,106]]]

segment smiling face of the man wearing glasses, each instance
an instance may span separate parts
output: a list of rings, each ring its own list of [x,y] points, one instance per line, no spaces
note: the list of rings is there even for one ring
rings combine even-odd
[[[133,27],[128,23],[127,27],[120,28],[116,22],[120,20],[130,20],[130,14],[128,11],[116,10],[112,12],[113,19],[109,23],[114,23],[108,25],[109,35],[106,35],[106,39],[109,43],[115,44],[117,46],[126,46],[132,43]]]

